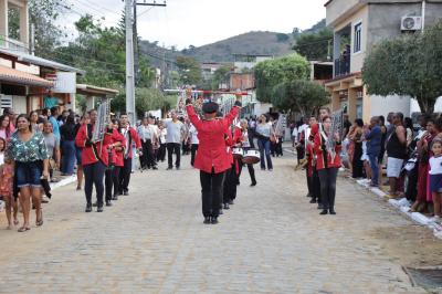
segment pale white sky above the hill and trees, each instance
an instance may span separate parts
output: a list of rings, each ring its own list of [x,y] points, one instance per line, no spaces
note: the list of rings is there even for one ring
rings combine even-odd
[[[104,18],[115,25],[124,9],[122,0],[67,0],[74,12],[63,20],[72,30],[78,13]],[[145,0],[138,0],[144,2]],[[147,0],[151,2],[152,0]],[[164,0],[157,0],[162,2]],[[143,39],[179,49],[203,45],[249,31],[292,32],[325,18],[325,0],[167,0],[167,8],[138,8]]]

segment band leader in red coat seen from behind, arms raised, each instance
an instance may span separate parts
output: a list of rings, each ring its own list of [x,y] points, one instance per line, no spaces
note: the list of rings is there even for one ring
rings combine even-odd
[[[197,128],[200,139],[194,168],[200,170],[204,223],[218,223],[224,171],[231,168],[224,134],[240,113],[240,107],[241,95],[238,95],[232,111],[223,119],[215,119],[219,106],[214,102],[207,102],[202,105],[203,119],[200,119],[191,99],[186,101],[189,119]]]

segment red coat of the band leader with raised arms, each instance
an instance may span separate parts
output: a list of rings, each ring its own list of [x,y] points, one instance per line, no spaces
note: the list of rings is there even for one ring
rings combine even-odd
[[[192,105],[186,106],[190,122],[198,130],[200,145],[198,147],[194,167],[211,174],[220,174],[232,167],[229,154],[225,148],[224,134],[230,124],[240,112],[239,106],[222,119],[201,120],[196,114]]]

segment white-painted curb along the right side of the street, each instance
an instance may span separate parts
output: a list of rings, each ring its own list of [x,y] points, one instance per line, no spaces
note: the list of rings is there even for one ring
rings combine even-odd
[[[380,190],[379,188],[370,188],[368,185],[369,181],[367,181],[366,179],[356,180],[356,183],[368,189],[370,192],[378,196],[379,198],[382,198],[382,199],[387,198],[387,193],[383,192],[382,190]],[[390,206],[394,207],[398,211],[402,212],[404,216],[409,217],[413,222],[415,222],[420,225],[424,225],[428,229],[432,230],[433,235],[435,238],[442,240],[442,225],[434,222],[431,218],[428,218],[420,212],[409,212],[411,203],[406,198],[401,198],[399,200],[389,199],[388,203]]]

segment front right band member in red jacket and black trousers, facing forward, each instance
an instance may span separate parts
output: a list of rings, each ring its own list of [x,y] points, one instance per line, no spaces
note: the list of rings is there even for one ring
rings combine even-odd
[[[314,151],[316,155],[316,169],[320,181],[320,196],[323,211],[320,214],[336,214],[335,212],[335,196],[336,196],[336,179],[338,169],[340,168],[339,153],[341,141],[339,134],[330,134],[332,118],[323,117],[323,128],[315,136]],[[327,147],[328,140],[334,136],[335,146],[333,149]]]

